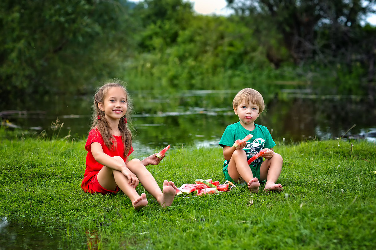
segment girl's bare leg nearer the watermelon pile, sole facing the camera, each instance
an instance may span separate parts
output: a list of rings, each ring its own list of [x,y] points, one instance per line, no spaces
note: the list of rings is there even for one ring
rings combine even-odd
[[[138,159],[128,162],[127,168],[134,173],[143,187],[161,204],[162,207],[170,206],[176,194],[174,182],[164,180],[163,188],[159,188],[153,175],[147,170],[144,164]]]

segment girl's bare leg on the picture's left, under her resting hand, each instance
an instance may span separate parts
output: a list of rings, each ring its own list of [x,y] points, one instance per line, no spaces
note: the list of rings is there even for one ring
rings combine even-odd
[[[121,157],[115,156],[113,158],[124,163]],[[108,190],[115,190],[116,186],[118,186],[120,190],[129,197],[135,209],[141,209],[147,205],[146,194],[142,193],[140,196],[136,192],[136,189],[128,184],[128,178],[120,171],[103,166],[97,178],[99,184]]]

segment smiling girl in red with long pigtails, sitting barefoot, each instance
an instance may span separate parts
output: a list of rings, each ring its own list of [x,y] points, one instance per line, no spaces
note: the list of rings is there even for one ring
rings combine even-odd
[[[85,145],[86,170],[81,187],[88,193],[123,191],[135,209],[147,205],[146,194],[139,195],[135,187],[143,187],[161,204],[170,206],[176,194],[174,182],[164,180],[159,188],[147,165],[158,165],[164,158],[150,155],[144,160],[129,160],[133,152],[132,133],[127,126],[130,113],[128,93],[118,81],[106,83],[94,96],[93,123]]]

